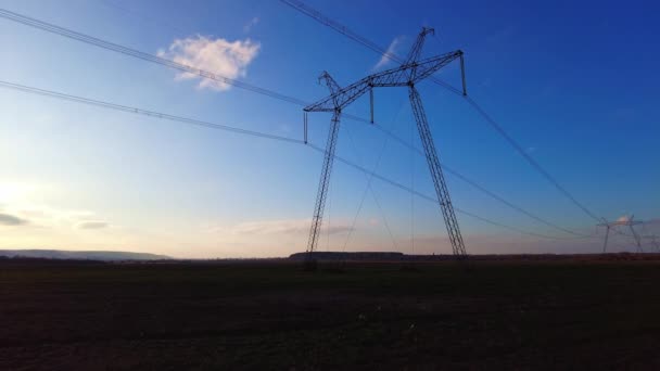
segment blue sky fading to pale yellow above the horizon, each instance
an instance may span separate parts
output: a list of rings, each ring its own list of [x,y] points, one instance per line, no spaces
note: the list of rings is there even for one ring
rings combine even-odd
[[[468,91],[581,203],[610,220],[660,217],[660,60],[650,2],[338,1],[309,5],[406,54],[421,26],[426,56],[461,49]],[[279,1],[0,1],[3,9],[187,62],[304,101],[327,95],[328,71],[347,85],[380,55]],[[179,40],[179,47],[176,44]],[[188,40],[188,41],[186,41]],[[204,41],[206,40],[206,41]],[[302,138],[300,106],[238,88],[200,86],[176,71],[4,18],[0,80]],[[170,49],[172,46],[175,46]],[[215,53],[214,52],[218,52]],[[220,53],[220,52],[224,52]],[[243,61],[237,62],[237,55]],[[239,60],[240,60],[239,57]],[[201,62],[200,62],[201,61]],[[178,77],[177,77],[178,76]],[[459,85],[453,64],[439,77]],[[459,97],[419,86],[444,164],[566,228],[594,221],[563,197]],[[368,116],[368,102],[350,110]],[[405,89],[376,92],[376,118],[421,148]],[[322,145],[329,115],[310,117]],[[384,149],[384,150],[383,150]],[[423,157],[364,123],[344,120],[338,154],[433,195]],[[0,89],[0,248],[130,250],[181,257],[281,256],[304,250],[321,156],[301,145],[191,127]],[[365,175],[332,174],[321,250],[448,253],[437,206],[372,181],[346,233]],[[445,175],[455,206],[525,231],[553,230]],[[414,184],[414,186],[412,186]],[[22,222],[15,222],[14,217]],[[531,238],[458,215],[471,253],[593,252],[594,239]],[[14,221],[7,221],[14,220]],[[392,230],[393,239],[386,230]],[[660,233],[658,222],[645,233]],[[630,239],[614,239],[618,250]]]

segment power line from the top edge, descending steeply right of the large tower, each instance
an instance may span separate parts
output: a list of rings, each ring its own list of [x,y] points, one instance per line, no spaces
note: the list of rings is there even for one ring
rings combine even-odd
[[[300,0],[280,0],[280,1],[289,7],[293,8],[294,10],[314,18],[318,23],[320,23],[327,27],[330,27],[330,28],[334,29],[335,31],[348,37],[350,39],[360,43],[361,46],[381,54],[384,57],[388,57],[392,61],[396,61],[399,63],[401,63],[401,61],[403,61],[402,57],[399,57],[393,53],[389,53],[385,49],[379,47],[373,41],[370,41],[369,39],[357,35],[356,33],[350,30],[344,25],[340,24],[337,21],[329,18],[328,16],[323,15],[321,12],[308,7],[307,4],[305,4],[304,2],[302,2]],[[443,88],[449,90],[450,92],[462,95],[462,92],[460,90],[452,87],[450,85],[448,85],[442,80],[439,80],[436,78],[433,78],[432,80],[433,80],[433,82],[442,86]],[[580,203],[547,170],[545,170],[541,166],[541,164],[538,164],[532,156],[530,156],[530,154],[526,153],[526,151],[524,151],[523,148],[510,135],[508,135],[504,130],[504,128],[499,124],[497,124],[497,121],[495,121],[472,98],[465,97],[465,99],[470,104],[470,106],[472,106],[486,120],[486,123],[490,124],[497,131],[497,133],[499,133],[509,144],[511,144],[511,146],[513,146],[513,149],[517,152],[519,152],[530,163],[530,165],[532,165],[532,167],[534,169],[536,169],[544,178],[546,178],[546,180],[548,180],[560,193],[562,193],[564,196],[567,196],[575,206],[578,206],[582,212],[584,212],[591,218],[600,221],[600,219],[598,217],[596,217],[596,215],[594,213],[592,213],[588,208],[586,208],[586,206],[584,206],[582,203]]]

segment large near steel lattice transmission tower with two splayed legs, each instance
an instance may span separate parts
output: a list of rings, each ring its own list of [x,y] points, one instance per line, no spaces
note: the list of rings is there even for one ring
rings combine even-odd
[[[316,251],[318,238],[320,233],[321,222],[323,218],[323,209],[326,206],[326,197],[328,193],[328,184],[330,181],[330,174],[332,171],[332,162],[334,159],[334,149],[337,146],[337,137],[340,126],[340,116],[342,110],[353,103],[363,94],[369,92],[371,103],[371,123],[373,123],[373,88],[393,88],[393,87],[406,87],[409,90],[409,99],[412,105],[412,112],[417,121],[417,128],[419,136],[424,148],[424,154],[431,177],[433,178],[433,184],[435,186],[435,193],[437,194],[437,201],[440,208],[447,227],[447,233],[452,242],[452,250],[454,255],[465,257],[467,255],[465,243],[458,228],[458,220],[454,213],[454,206],[449,197],[449,191],[442,172],[440,165],[440,158],[433,138],[431,136],[431,129],[427,120],[427,115],[421,102],[419,92],[415,88],[415,85],[424,78],[431,76],[440,68],[446,66],[452,61],[460,60],[460,72],[462,79],[462,92],[466,92],[466,78],[465,78],[465,64],[462,51],[457,50],[442,55],[436,55],[428,59],[420,60],[421,49],[424,43],[424,39],[428,34],[433,34],[433,28],[423,27],[408,57],[398,67],[383,71],[378,74],[369,75],[361,80],[354,82],[345,88],[341,88],[334,79],[323,72],[320,79],[322,79],[328,88],[330,89],[330,95],[325,99],[310,104],[304,108],[305,113],[305,143],[307,142],[307,113],[309,112],[331,112],[332,121],[330,126],[330,133],[328,135],[328,141],[326,144],[326,153],[323,158],[323,166],[321,169],[321,177],[318,186],[318,194],[316,196],[316,205],[314,206],[314,215],[312,218],[312,227],[309,228],[309,240],[307,242],[307,253]],[[309,255],[308,255],[309,256]]]

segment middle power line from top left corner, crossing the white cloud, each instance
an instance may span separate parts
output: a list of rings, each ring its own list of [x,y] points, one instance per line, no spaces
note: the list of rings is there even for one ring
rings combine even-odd
[[[61,36],[64,36],[64,37],[67,37],[67,38],[74,39],[74,40],[82,41],[82,42],[86,42],[86,43],[89,43],[89,44],[92,44],[92,46],[97,46],[97,47],[100,47],[100,48],[103,48],[103,49],[106,49],[106,50],[110,50],[110,51],[119,52],[122,54],[126,54],[126,55],[129,55],[129,56],[135,56],[135,57],[138,57],[140,60],[148,61],[148,62],[161,64],[161,65],[164,65],[164,66],[167,66],[167,67],[176,68],[176,69],[179,69],[179,71],[183,71],[183,72],[187,72],[187,73],[192,73],[192,74],[195,74],[195,75],[198,75],[198,76],[200,76],[202,78],[207,78],[207,79],[220,81],[220,82],[224,82],[224,84],[230,84],[230,85],[236,86],[238,88],[245,89],[245,90],[249,90],[249,91],[252,91],[252,92],[256,92],[256,93],[259,93],[259,94],[264,94],[264,95],[267,95],[267,97],[271,97],[271,98],[275,98],[275,99],[288,102],[288,103],[292,103],[292,104],[296,104],[296,105],[306,105],[306,104],[308,104],[308,103],[306,103],[306,102],[304,102],[304,101],[302,101],[300,99],[296,99],[296,98],[293,98],[293,97],[289,97],[289,95],[284,95],[284,94],[281,94],[279,92],[272,91],[272,90],[264,89],[264,88],[261,88],[261,87],[257,87],[257,86],[254,86],[254,85],[250,85],[250,84],[246,84],[246,82],[243,82],[243,81],[240,81],[240,80],[230,79],[230,78],[227,78],[227,77],[224,77],[224,76],[220,76],[220,75],[207,72],[207,71],[203,71],[203,69],[200,69],[200,68],[195,68],[195,67],[187,66],[187,65],[183,65],[183,64],[179,64],[179,63],[170,61],[170,60],[166,60],[166,59],[153,55],[153,54],[149,54],[149,53],[144,53],[144,52],[141,52],[141,51],[137,51],[137,50],[134,50],[134,49],[130,49],[130,48],[127,48],[127,47],[123,47],[123,46],[119,46],[119,44],[116,44],[116,43],[113,43],[113,42],[104,41],[104,40],[101,40],[101,39],[98,39],[98,38],[85,35],[85,34],[80,34],[80,33],[77,33],[77,31],[74,31],[74,30],[71,30],[71,29],[66,29],[64,27],[60,27],[60,26],[56,26],[56,25],[53,25],[53,24],[49,24],[47,22],[35,20],[35,18],[28,17],[28,16],[25,16],[25,15],[21,15],[21,14],[11,12],[11,11],[0,10],[0,16],[4,17],[7,20],[10,20],[10,21],[14,21],[14,22],[27,25],[27,26],[36,27],[38,29],[42,29],[42,30],[46,30],[46,31],[49,31],[49,33],[61,35]],[[358,116],[355,116],[355,115],[344,114],[344,117],[353,119],[353,120],[356,120],[356,121],[370,123],[370,120],[367,120],[365,118],[361,118],[361,117],[358,117]],[[412,144],[406,142],[404,139],[402,139],[398,136],[392,133],[391,131],[382,128],[380,125],[373,125],[373,127],[376,127],[378,130],[380,130],[381,132],[385,133],[386,136],[395,139],[397,142],[404,144],[405,146],[414,149],[419,155],[421,155],[421,156],[424,155],[419,149],[415,148]],[[559,227],[559,226],[557,226],[555,223],[551,223],[551,222],[549,222],[547,220],[544,220],[544,219],[540,218],[538,216],[534,216],[532,213],[526,212],[526,210],[522,209],[519,206],[515,206],[512,203],[505,201],[502,196],[498,196],[498,195],[496,195],[495,193],[493,193],[491,191],[487,191],[483,186],[479,186],[477,182],[474,182],[472,180],[469,180],[467,177],[460,175],[456,170],[449,169],[445,165],[442,165],[442,167],[445,168],[448,172],[450,172],[450,174],[455,175],[456,177],[458,177],[459,179],[461,179],[461,180],[468,182],[469,184],[473,186],[475,189],[478,189],[478,190],[480,190],[482,192],[485,191],[484,193],[486,195],[494,197],[496,201],[503,202],[505,205],[507,205],[509,207],[512,207],[513,209],[516,209],[518,212],[521,212],[522,214],[524,214],[524,215],[526,215],[529,217],[532,217],[533,219],[535,219],[537,221],[541,221],[541,222],[545,223],[546,226],[553,227],[553,228],[555,228],[557,230],[560,230],[560,231],[563,231],[563,232],[568,232],[569,231],[568,229],[561,228],[561,227]],[[568,232],[568,233],[580,235],[580,233],[575,233],[573,231]]]

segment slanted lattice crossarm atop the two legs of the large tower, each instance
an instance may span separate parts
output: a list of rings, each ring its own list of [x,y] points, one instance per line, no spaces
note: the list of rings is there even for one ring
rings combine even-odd
[[[361,80],[332,92],[330,95],[304,108],[306,112],[334,112],[353,103],[372,88],[407,87],[431,76],[452,61],[460,59],[462,51],[457,50],[446,54],[428,57],[421,61],[410,61],[396,68],[386,69],[369,75]]]

